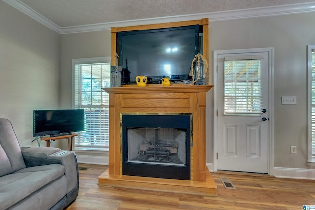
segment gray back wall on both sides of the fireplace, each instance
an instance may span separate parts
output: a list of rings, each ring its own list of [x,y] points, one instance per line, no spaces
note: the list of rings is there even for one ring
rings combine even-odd
[[[206,17],[205,17],[206,18]],[[274,48],[274,166],[309,168],[307,154],[306,46],[315,44],[315,13],[246,18],[209,23],[209,81],[213,83],[213,51]],[[110,31],[61,35],[61,105],[71,106],[71,59],[110,56]],[[81,52],[79,52],[81,51]],[[207,104],[207,162],[213,151],[213,90]],[[297,104],[281,105],[281,96],[297,96]],[[290,146],[297,154],[290,154]]]

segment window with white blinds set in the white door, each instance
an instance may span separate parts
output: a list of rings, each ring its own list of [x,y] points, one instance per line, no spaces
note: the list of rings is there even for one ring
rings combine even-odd
[[[261,59],[224,60],[224,115],[262,113]]]

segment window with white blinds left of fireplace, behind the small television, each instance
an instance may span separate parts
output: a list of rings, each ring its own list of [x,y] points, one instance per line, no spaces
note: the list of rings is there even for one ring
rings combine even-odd
[[[84,109],[84,131],[75,138],[75,149],[106,149],[109,145],[110,57],[73,59],[73,106]]]

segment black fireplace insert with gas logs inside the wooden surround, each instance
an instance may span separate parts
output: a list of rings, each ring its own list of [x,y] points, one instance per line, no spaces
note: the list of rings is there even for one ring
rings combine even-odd
[[[122,174],[190,180],[191,113],[122,113]]]

